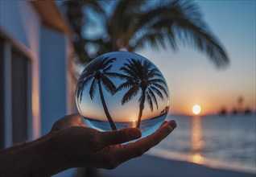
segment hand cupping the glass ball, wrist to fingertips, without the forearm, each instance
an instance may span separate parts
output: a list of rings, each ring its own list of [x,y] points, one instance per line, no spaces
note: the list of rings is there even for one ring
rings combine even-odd
[[[126,128],[100,132],[86,126],[78,114],[72,114],[56,121],[50,132],[50,145],[53,153],[60,154],[60,159],[64,159],[68,167],[113,169],[157,145],[175,127],[175,121],[164,122],[154,134],[137,142],[120,145],[140,138],[140,130]]]

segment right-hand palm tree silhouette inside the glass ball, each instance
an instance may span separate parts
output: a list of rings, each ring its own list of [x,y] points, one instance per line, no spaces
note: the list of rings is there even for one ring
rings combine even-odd
[[[153,102],[156,105],[156,109],[158,109],[158,102],[156,100],[155,93],[162,100],[164,99],[162,92],[165,93],[167,97],[168,94],[162,85],[166,85],[166,83],[161,79],[159,70],[154,68],[151,63],[146,60],[142,61],[135,59],[127,61],[128,63],[124,64],[124,66],[120,68],[120,71],[125,73],[125,75],[122,75],[122,78],[126,79],[126,81],[118,86],[117,91],[128,89],[122,97],[122,105],[140,93],[140,97],[138,99],[139,113],[136,125],[136,127],[139,128],[145,101],[147,100],[151,111],[153,111]]]

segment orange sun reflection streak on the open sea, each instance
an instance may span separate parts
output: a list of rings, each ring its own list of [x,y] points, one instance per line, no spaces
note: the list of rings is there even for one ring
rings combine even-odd
[[[202,138],[201,118],[193,117],[192,134],[191,134],[191,161],[192,163],[204,163],[202,149],[204,148],[204,140]]]

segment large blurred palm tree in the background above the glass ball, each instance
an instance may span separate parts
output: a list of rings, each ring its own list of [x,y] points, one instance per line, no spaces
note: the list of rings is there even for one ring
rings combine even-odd
[[[81,38],[75,38],[74,41],[80,43],[76,51],[79,51],[79,54],[83,53],[81,61],[84,63],[102,53],[118,51],[122,48],[127,51],[137,51],[150,46],[153,49],[170,47],[177,50],[181,43],[204,52],[219,68],[229,64],[224,48],[209,30],[195,2],[176,0],[71,2],[79,6],[73,13],[84,14],[84,16],[77,15],[79,22],[84,18],[85,23],[81,26],[74,24],[76,15],[67,15],[72,26],[79,28],[76,31],[80,33]],[[66,14],[67,9],[73,8],[70,3],[65,3],[64,7]],[[89,9],[93,10],[89,11]],[[95,15],[97,18],[85,20],[86,17]],[[81,29],[96,24],[101,27],[101,33],[97,31],[92,35],[84,32],[81,35]]]

